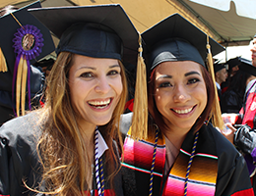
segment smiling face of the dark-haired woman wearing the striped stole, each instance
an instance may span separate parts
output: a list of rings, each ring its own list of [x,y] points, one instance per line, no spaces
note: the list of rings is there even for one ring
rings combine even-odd
[[[199,64],[164,62],[156,69],[155,100],[171,130],[189,131],[207,105],[207,89]]]

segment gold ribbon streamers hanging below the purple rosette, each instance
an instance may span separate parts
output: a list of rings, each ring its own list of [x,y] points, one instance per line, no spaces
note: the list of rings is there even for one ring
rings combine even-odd
[[[18,66],[17,80],[16,80],[16,113],[20,116],[20,104],[22,116],[25,115],[26,102],[26,86],[27,86],[28,65],[24,57],[21,57]]]

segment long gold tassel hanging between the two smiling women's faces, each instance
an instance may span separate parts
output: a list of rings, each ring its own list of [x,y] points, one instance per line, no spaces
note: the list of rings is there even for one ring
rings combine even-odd
[[[146,65],[142,57],[142,38],[139,35],[139,54],[137,62],[137,75],[133,106],[133,121],[131,136],[134,139],[148,138],[148,97]]]

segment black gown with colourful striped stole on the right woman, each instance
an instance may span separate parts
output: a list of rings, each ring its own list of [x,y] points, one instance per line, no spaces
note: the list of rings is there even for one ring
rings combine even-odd
[[[124,124],[126,125],[121,127],[127,129],[127,123]],[[194,137],[193,131],[187,134],[168,176],[162,174],[165,144],[159,140],[153,195],[184,194],[184,176],[189,160],[187,155],[192,151]],[[125,195],[149,195],[153,142],[152,138],[134,141],[127,135],[122,167]],[[243,157],[212,124],[204,124],[199,130],[196,156],[192,162],[188,184],[188,195],[254,195]]]

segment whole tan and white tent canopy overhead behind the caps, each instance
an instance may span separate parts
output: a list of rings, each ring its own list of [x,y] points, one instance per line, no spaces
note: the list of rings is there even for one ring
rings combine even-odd
[[[23,7],[34,1],[0,0],[0,8],[10,4]],[[256,33],[254,11],[256,0],[40,0],[40,2],[42,7],[120,3],[140,32],[171,14],[179,13],[225,47],[249,45]],[[54,42],[57,43],[58,40],[54,38]]]

